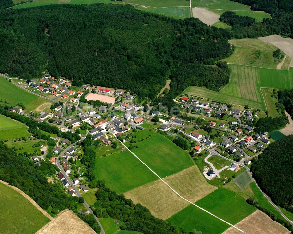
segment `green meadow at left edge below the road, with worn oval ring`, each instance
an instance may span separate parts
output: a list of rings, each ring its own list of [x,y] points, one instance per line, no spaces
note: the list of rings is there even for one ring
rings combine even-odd
[[[0,86],[0,99],[3,101],[6,100],[12,106],[20,102],[25,106],[26,110],[35,111],[40,105],[50,103],[48,100],[40,98],[8,82],[3,76],[0,76]]]

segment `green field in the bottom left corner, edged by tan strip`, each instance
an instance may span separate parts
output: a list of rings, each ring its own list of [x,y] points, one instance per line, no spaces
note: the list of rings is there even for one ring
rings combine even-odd
[[[49,221],[23,195],[0,183],[0,233],[33,234]]]

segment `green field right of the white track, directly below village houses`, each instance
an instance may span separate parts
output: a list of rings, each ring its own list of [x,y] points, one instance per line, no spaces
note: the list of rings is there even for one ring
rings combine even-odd
[[[194,165],[186,151],[161,134],[146,129],[133,136],[136,136],[135,140],[142,138],[144,140],[133,143],[134,148],[131,151],[161,177],[172,175]],[[145,139],[146,137],[149,138]],[[130,142],[125,145],[130,146]],[[139,147],[136,148],[136,146]]]

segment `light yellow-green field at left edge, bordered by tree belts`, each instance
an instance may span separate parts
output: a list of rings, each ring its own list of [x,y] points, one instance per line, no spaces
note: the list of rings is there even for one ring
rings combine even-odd
[[[11,118],[0,115],[0,140],[14,139],[21,136],[29,136],[27,127]]]

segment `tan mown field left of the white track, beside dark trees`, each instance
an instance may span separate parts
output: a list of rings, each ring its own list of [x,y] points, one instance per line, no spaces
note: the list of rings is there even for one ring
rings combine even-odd
[[[135,204],[140,203],[147,207],[151,213],[163,220],[188,206],[188,202],[175,194],[161,180],[150,182],[124,193]]]

